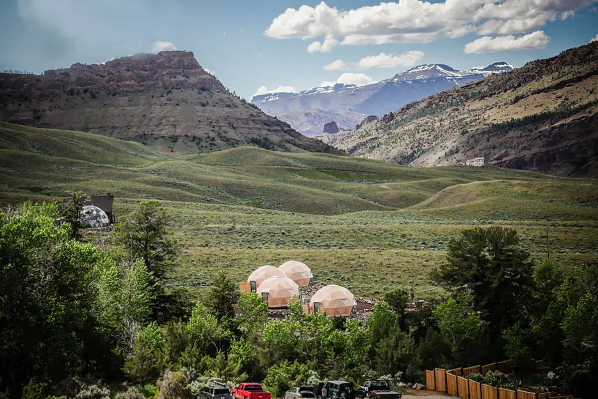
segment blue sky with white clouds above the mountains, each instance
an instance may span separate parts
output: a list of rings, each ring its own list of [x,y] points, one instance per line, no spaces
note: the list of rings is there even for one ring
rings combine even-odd
[[[193,51],[238,95],[423,63],[522,66],[598,39],[598,0],[0,0],[0,71]]]

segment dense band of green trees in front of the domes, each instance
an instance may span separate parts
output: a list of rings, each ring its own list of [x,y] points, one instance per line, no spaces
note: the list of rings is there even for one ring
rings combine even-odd
[[[405,311],[413,297],[395,290],[367,322],[306,314],[297,300],[281,320],[226,275],[205,301],[171,290],[180,246],[159,202],[139,204],[109,246],[82,242],[80,198],[70,203],[62,214],[72,224],[57,226],[54,203],[0,213],[0,397],[185,397],[210,378],[263,382],[280,396],[297,383],[416,382],[425,368],[505,358],[519,377],[532,359],[549,360],[569,393],[593,394],[598,264],[567,274],[536,265],[514,230],[452,239],[432,275],[447,296],[431,306]]]

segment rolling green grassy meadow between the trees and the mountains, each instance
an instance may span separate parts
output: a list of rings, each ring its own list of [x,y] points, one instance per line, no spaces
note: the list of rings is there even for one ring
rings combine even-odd
[[[0,202],[110,191],[115,212],[163,200],[184,244],[173,284],[205,292],[219,270],[245,279],[289,258],[315,282],[377,297],[442,290],[428,272],[472,226],[517,229],[533,257],[598,259],[598,181],[496,167],[414,168],[255,147],[163,157],[136,142],[0,123]]]

